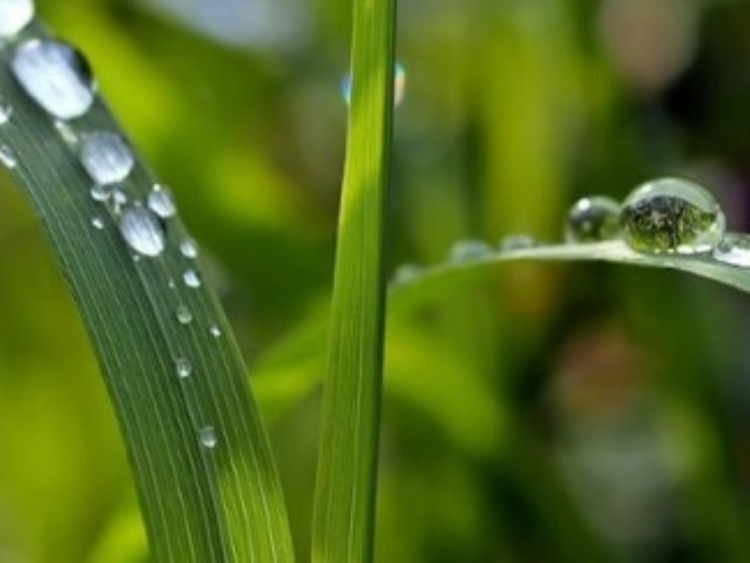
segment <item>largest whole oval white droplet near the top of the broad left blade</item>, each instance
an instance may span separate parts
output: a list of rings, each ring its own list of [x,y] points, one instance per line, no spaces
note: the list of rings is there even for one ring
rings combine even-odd
[[[85,114],[94,103],[94,79],[88,62],[67,43],[31,39],[22,43],[11,62],[21,87],[47,113],[58,119]]]

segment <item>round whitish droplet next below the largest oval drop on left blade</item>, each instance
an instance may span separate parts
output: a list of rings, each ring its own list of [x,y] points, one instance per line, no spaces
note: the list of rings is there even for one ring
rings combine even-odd
[[[84,137],[81,164],[97,184],[115,184],[130,175],[135,159],[120,135],[102,131]]]

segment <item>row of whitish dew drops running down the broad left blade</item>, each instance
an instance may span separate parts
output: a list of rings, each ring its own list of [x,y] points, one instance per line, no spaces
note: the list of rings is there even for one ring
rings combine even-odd
[[[0,44],[12,40],[34,18],[31,0],[0,0]],[[132,200],[122,186],[131,175],[136,161],[127,142],[117,133],[95,131],[78,135],[68,123],[84,116],[96,100],[93,73],[81,53],[62,41],[33,38],[20,41],[11,60],[11,71],[21,88],[55,121],[63,139],[78,149],[80,162],[94,182],[90,197],[103,205],[118,221],[119,232],[132,250],[133,259],[160,256],[166,249],[166,223],[177,214],[177,208],[168,188],[159,184],[150,188],[145,202]],[[0,99],[0,126],[13,118],[13,108]],[[8,146],[0,146],[0,164],[15,168],[17,159]],[[106,223],[101,216],[91,220],[91,225],[103,230]],[[179,244],[183,259],[198,258],[196,243],[185,238]],[[188,289],[202,285],[197,270],[186,269],[182,283]],[[169,282],[177,289],[174,281]],[[181,325],[193,322],[193,313],[186,305],[178,305],[176,321]],[[208,332],[214,338],[222,336],[221,328],[212,324]],[[186,357],[177,357],[175,373],[180,380],[194,374],[194,366]],[[218,445],[218,435],[213,426],[197,424],[198,439],[206,449]]]

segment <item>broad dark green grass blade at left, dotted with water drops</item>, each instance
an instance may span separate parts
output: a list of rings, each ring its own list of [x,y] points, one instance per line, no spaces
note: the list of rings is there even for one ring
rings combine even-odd
[[[34,23],[18,41],[46,36]],[[187,269],[198,268],[179,251],[187,236],[183,225],[165,220],[165,252],[134,259],[116,211],[89,196],[92,181],[73,138],[117,132],[117,123],[97,98],[83,117],[56,126],[12,77],[14,48],[15,42],[0,45],[0,96],[13,108],[0,126],[0,146],[14,156],[11,174],[54,247],[99,358],[153,559],[293,560],[277,472],[246,368],[213,294],[205,284],[182,282]],[[123,183],[130,202],[143,201],[153,185],[136,159]],[[178,322],[180,306],[190,311],[190,322]],[[191,363],[190,377],[178,377],[178,358]],[[213,447],[201,439],[209,427],[217,439]]]

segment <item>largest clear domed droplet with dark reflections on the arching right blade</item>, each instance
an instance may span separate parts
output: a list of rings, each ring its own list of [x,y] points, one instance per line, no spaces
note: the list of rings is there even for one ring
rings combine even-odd
[[[710,252],[724,236],[724,214],[698,184],[662,178],[636,188],[622,207],[623,238],[649,254]]]

